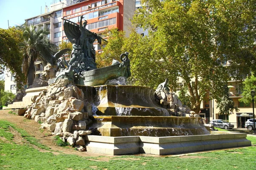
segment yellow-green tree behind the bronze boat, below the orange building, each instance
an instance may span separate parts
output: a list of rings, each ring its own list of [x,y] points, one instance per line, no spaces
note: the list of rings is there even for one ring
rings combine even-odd
[[[102,41],[102,53],[96,54],[96,64],[98,68],[106,67],[112,64],[113,59],[119,60],[119,56],[124,53],[122,46],[125,41],[125,32],[119,31],[117,28],[104,31],[102,34],[108,37],[108,42]]]

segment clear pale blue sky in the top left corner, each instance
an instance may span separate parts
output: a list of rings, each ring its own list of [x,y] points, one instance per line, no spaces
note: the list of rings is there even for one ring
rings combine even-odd
[[[45,5],[50,7],[53,2],[59,0],[0,0],[0,28],[17,26],[25,23],[25,19],[35,17],[45,11]]]

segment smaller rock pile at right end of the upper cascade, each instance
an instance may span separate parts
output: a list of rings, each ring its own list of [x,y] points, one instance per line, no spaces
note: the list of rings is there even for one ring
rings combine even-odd
[[[170,109],[175,116],[200,117],[194,111],[182,105],[182,102],[175,93],[170,93],[165,88],[159,88],[155,91],[155,100],[163,108]]]

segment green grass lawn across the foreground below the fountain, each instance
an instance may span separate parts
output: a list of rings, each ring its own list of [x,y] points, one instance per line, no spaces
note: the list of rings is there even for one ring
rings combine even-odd
[[[13,141],[9,127],[21,134],[23,144]],[[256,144],[256,136],[247,139]],[[48,150],[40,152],[33,145]],[[81,157],[52,151],[25,130],[0,120],[0,170],[255,170],[256,147],[218,150],[186,156]]]

